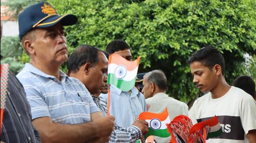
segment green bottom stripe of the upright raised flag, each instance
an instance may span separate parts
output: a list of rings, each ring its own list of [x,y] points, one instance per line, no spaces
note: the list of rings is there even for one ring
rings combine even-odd
[[[108,74],[108,84],[115,85],[117,88],[121,89],[121,91],[129,91],[135,85],[136,77],[131,81],[124,81],[115,78],[114,74]]]

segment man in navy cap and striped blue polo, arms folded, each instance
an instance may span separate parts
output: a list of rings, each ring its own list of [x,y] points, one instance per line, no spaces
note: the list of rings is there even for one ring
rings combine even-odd
[[[21,12],[18,21],[30,63],[17,77],[42,142],[108,142],[115,118],[103,118],[87,88],[60,70],[68,54],[63,26],[74,25],[77,17],[58,15],[53,6],[42,2]]]

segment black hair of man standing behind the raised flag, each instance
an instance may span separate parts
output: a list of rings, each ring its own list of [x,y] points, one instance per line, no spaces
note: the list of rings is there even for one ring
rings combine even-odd
[[[106,48],[106,51],[111,55],[120,50],[130,49],[130,46],[123,40],[114,40],[110,42]]]

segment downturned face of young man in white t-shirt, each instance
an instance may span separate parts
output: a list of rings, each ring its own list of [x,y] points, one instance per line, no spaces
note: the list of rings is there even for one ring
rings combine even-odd
[[[195,86],[202,93],[209,92],[216,87],[216,74],[204,66],[202,62],[192,62],[190,64],[190,70]]]

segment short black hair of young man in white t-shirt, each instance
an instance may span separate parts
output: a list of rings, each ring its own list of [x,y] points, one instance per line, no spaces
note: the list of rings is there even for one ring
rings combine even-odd
[[[210,70],[218,64],[222,68],[222,75],[225,75],[225,61],[221,52],[212,46],[206,46],[197,50],[187,61],[188,64],[192,62],[201,62],[204,66]]]

